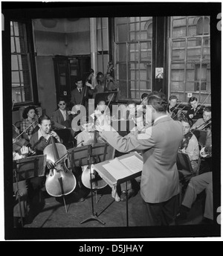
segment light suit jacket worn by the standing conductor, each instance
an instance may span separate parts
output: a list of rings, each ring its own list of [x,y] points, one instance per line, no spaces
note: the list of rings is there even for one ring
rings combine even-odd
[[[181,122],[166,116],[148,128],[147,134],[120,136],[116,131],[100,135],[120,152],[142,150],[140,193],[145,202],[166,202],[180,192],[176,156],[183,138]],[[121,171],[121,170],[120,170]]]

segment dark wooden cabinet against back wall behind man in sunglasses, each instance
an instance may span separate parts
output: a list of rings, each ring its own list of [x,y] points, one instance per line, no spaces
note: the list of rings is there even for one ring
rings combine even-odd
[[[71,90],[76,88],[77,77],[83,79],[83,84],[89,75],[91,68],[90,55],[81,56],[56,56],[54,57],[54,74],[56,82],[56,101],[59,97],[65,97],[70,106]]]

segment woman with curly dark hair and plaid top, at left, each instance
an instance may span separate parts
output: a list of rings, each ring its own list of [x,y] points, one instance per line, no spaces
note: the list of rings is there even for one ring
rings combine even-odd
[[[36,107],[28,106],[24,109],[22,113],[22,123],[21,123],[21,132],[24,132],[22,137],[27,141],[30,140],[31,135],[36,132],[38,127],[38,117],[36,115]],[[29,127],[29,128],[28,128]]]

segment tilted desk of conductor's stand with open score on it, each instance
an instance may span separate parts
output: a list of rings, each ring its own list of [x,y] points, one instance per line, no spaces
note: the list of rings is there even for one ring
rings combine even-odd
[[[93,167],[112,188],[114,185],[140,176],[143,158],[137,152],[131,152],[111,161],[94,164]]]

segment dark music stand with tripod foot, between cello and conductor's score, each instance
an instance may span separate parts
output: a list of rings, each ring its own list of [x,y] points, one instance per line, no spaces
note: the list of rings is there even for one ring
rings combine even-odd
[[[91,164],[103,161],[103,159],[111,159],[114,156],[114,149],[109,147],[109,144],[106,143],[96,143],[93,145],[87,145],[83,147],[75,147],[71,150],[68,150],[68,159],[71,162],[71,167],[80,167],[83,165],[88,165],[90,170],[90,183],[91,183],[91,216],[87,219],[80,222],[83,224],[89,220],[97,220],[99,223],[105,225],[106,223],[97,216],[97,212],[94,213],[94,195],[92,188],[92,173],[91,173]]]

